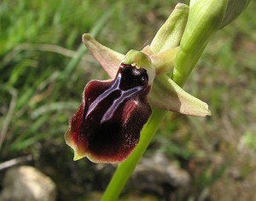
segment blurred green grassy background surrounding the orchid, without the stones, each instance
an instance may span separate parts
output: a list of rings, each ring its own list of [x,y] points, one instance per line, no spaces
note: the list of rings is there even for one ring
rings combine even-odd
[[[177,2],[2,0],[0,164],[32,156],[27,163],[55,181],[59,200],[102,192],[110,177],[99,178],[86,158],[73,162],[63,139],[84,85],[92,78],[108,78],[81,45],[81,36],[90,32],[123,54],[142,49]],[[173,198],[255,198],[255,10],[252,1],[212,37],[185,84],[190,94],[208,103],[212,117],[168,114],[145,154],[162,152],[191,176],[189,188],[172,192]]]

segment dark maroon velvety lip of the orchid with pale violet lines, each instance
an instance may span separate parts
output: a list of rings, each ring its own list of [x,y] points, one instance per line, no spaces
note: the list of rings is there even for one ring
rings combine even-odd
[[[123,63],[113,81],[90,81],[83,103],[70,119],[67,143],[76,146],[80,158],[97,163],[123,161],[137,145],[151,114],[149,89],[147,71]]]

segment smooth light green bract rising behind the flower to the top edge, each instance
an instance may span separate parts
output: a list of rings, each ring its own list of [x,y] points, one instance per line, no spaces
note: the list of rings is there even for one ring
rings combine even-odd
[[[191,0],[189,19],[175,58],[173,80],[183,84],[201,57],[212,34],[218,31],[228,0]]]

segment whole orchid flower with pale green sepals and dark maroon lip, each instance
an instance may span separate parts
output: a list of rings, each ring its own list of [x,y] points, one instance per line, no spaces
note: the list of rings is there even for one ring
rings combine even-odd
[[[126,55],[108,49],[90,34],[83,35],[83,43],[110,79],[87,83],[82,103],[70,118],[65,140],[74,150],[74,160],[123,162],[137,146],[151,107],[197,117],[211,115],[207,103],[167,75],[173,70],[188,13],[188,6],[177,4],[152,43]]]

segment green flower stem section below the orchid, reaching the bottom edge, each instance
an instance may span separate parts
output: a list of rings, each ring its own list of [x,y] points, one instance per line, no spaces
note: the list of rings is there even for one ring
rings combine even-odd
[[[164,118],[166,111],[160,109],[154,109],[150,116],[148,123],[145,124],[141,132],[141,139],[131,153],[131,156],[125,160],[122,164],[119,164],[115,170],[114,175],[108,184],[106,191],[102,196],[102,201],[113,201],[119,197],[125,187],[126,182],[130,178],[137,163],[142,158],[143,153],[146,151],[150,141],[152,141],[154,134],[156,133],[162,119]]]

